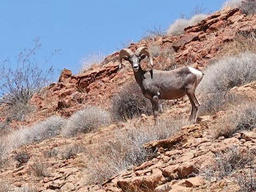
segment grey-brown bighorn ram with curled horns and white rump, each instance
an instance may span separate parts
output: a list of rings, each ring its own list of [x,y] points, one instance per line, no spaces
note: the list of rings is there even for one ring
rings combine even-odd
[[[119,68],[123,59],[131,63],[136,82],[140,86],[143,95],[149,98],[152,103],[155,123],[157,122],[159,99],[174,100],[184,95],[188,96],[192,105],[189,120],[196,122],[200,103],[194,92],[203,78],[203,73],[193,67],[182,67],[172,71],[144,71],[140,62],[146,56],[153,66],[153,58],[147,47],[139,47],[135,53],[129,48],[121,49],[119,53]]]

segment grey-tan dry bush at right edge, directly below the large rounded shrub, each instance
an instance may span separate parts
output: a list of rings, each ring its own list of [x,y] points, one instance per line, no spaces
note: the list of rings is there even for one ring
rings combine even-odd
[[[232,137],[234,133],[252,131],[256,127],[256,103],[251,102],[235,109],[235,112],[223,116],[214,126],[212,135],[214,138]]]

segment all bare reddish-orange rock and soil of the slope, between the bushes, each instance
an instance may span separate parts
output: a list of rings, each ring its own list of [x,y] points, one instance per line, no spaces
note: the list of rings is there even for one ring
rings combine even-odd
[[[222,48],[235,38],[237,32],[250,33],[256,30],[256,18],[245,16],[235,8],[222,10],[212,14],[195,26],[187,27],[185,34],[174,37],[147,38],[129,48],[153,46],[160,48],[160,54],[154,58],[155,67],[163,69],[175,66],[192,65],[204,69],[213,59],[216,59]],[[172,58],[168,55],[172,54]],[[163,66],[164,64],[164,66]],[[174,66],[175,64],[175,66]],[[144,63],[145,65],[145,63]],[[147,67],[147,66],[145,66]],[[63,70],[58,83],[53,83],[40,94],[35,95],[31,103],[37,107],[36,113],[25,123],[32,123],[47,116],[58,114],[70,116],[86,104],[109,108],[111,98],[121,85],[132,79],[130,64],[118,69],[118,52],[109,55],[101,64],[79,75],[72,75],[70,70]],[[247,95],[255,100],[255,82],[235,87],[230,93]],[[188,116],[190,103],[187,98],[160,115],[160,118],[175,114]],[[87,166],[86,152],[78,152],[77,156],[68,159],[59,154],[47,156],[54,148],[65,151],[72,145],[92,147],[101,145],[105,140],[111,140],[114,131],[123,129],[127,124],[136,125],[143,121],[144,125],[153,125],[152,116],[142,116],[126,123],[117,122],[108,127],[102,127],[95,133],[84,134],[77,138],[61,136],[47,139],[35,145],[22,147],[32,158],[26,164],[15,167],[14,163],[0,171],[0,182],[11,183],[14,187],[35,187],[36,191],[235,191],[239,188],[232,179],[209,181],[199,174],[201,170],[214,165],[215,154],[226,151],[236,144],[242,148],[256,148],[255,128],[252,131],[239,132],[230,138],[212,138],[210,131],[223,115],[233,113],[232,110],[200,117],[199,123],[185,126],[173,137],[148,143],[145,147],[157,149],[155,158],[124,170],[109,178],[102,185],[87,185],[84,168]],[[21,149],[19,149],[21,150]],[[12,152],[15,154],[15,150]],[[47,174],[35,177],[31,167],[40,159],[41,166],[47,167]],[[12,186],[9,184],[9,188]],[[0,189],[1,191],[1,189]]]

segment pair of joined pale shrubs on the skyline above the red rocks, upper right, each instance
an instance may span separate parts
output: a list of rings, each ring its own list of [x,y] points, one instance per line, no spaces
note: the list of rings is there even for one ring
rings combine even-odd
[[[182,35],[185,33],[185,28],[188,26],[193,26],[194,24],[204,20],[208,15],[205,14],[197,14],[192,16],[190,19],[179,18],[170,27],[167,29],[167,35],[176,36]]]

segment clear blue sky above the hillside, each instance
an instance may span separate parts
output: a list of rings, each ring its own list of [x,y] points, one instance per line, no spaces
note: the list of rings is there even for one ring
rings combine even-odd
[[[77,73],[90,53],[109,54],[138,41],[154,25],[167,28],[197,6],[216,11],[224,0],[3,0],[0,4],[0,61],[15,59],[40,38],[38,60],[61,49],[51,65]]]

